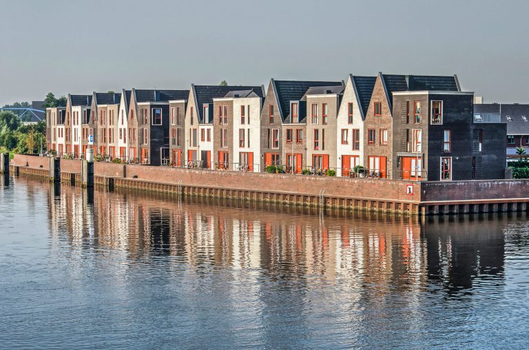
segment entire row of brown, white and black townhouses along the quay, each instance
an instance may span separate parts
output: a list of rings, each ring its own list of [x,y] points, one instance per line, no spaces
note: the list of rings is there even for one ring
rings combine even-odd
[[[506,124],[475,116],[457,76],[271,79],[68,95],[47,109],[48,150],[150,165],[393,179],[501,179]],[[362,171],[354,171],[362,166]]]

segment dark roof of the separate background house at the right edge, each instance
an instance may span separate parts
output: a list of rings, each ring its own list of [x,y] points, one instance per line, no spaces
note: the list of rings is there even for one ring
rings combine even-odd
[[[474,114],[500,114],[501,122],[507,124],[508,135],[529,135],[529,105],[477,104],[474,105]],[[526,120],[523,120],[523,116]]]

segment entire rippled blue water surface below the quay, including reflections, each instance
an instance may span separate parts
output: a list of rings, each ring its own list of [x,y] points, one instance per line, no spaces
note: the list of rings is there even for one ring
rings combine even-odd
[[[525,213],[0,185],[2,349],[527,349]]]

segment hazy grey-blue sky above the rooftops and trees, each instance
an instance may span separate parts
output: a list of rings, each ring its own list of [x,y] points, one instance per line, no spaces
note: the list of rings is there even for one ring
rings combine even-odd
[[[123,87],[457,74],[529,102],[528,1],[0,0],[0,104]]]

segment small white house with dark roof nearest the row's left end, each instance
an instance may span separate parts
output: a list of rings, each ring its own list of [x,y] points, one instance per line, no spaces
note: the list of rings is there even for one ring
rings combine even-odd
[[[83,143],[83,127],[88,128],[88,116],[92,105],[92,95],[68,94],[66,100],[66,117],[64,122],[65,153],[72,157],[80,157],[87,144]]]

